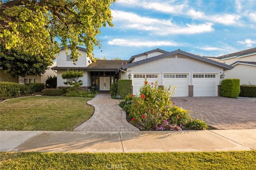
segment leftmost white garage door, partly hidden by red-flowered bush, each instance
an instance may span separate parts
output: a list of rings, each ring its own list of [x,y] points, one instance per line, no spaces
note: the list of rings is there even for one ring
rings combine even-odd
[[[158,81],[159,83],[159,75],[158,74],[133,74],[132,85],[133,85],[133,94],[140,94],[140,87],[144,85],[145,78],[148,83],[155,83]]]

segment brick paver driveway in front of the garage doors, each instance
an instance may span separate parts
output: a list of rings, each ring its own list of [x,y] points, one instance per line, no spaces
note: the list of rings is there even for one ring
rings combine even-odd
[[[256,99],[226,97],[174,97],[172,102],[182,109],[205,117],[208,125],[217,129],[256,128]]]

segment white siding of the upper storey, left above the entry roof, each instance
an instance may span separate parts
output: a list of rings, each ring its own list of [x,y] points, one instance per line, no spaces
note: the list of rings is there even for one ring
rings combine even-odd
[[[86,67],[88,64],[88,57],[86,51],[78,50],[82,54],[76,61],[76,65],[73,64],[73,61],[66,61],[66,51],[63,49],[60,51],[60,54],[57,55],[57,66],[58,67]],[[71,50],[68,49],[68,54],[71,54]],[[91,63],[91,62],[90,62]]]

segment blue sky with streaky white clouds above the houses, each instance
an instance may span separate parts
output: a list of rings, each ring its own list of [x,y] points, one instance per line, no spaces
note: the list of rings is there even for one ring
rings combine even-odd
[[[129,59],[160,48],[220,56],[256,47],[256,0],[118,0],[95,57]],[[102,50],[102,51],[101,51]]]

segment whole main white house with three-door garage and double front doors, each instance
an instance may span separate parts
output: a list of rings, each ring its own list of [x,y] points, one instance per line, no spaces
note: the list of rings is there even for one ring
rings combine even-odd
[[[57,56],[58,71],[57,86],[64,85],[61,75],[67,69],[81,70],[84,76],[82,87],[97,91],[109,91],[112,82],[118,79],[132,79],[133,93],[138,94],[144,79],[148,82],[158,81],[159,85],[176,86],[175,96],[217,96],[220,75],[224,70],[232,69],[230,65],[219,63],[181,51],[172,52],[154,49],[132,56],[128,61],[98,60],[92,62],[86,55],[86,49],[79,48],[83,55],[78,58],[76,65],[70,59],[64,48]]]

